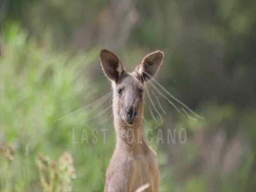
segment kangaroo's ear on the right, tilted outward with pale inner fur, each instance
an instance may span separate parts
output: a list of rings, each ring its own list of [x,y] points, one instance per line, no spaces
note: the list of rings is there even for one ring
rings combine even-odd
[[[143,58],[141,63],[135,69],[142,82],[149,81],[156,75],[159,66],[162,64],[163,58],[164,52],[162,51],[155,51]]]

